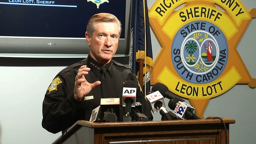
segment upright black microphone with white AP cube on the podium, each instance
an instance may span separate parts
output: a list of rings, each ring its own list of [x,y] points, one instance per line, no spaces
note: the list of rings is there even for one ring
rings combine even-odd
[[[125,107],[123,121],[132,121],[132,117],[130,117],[131,108],[135,107],[136,102],[136,93],[137,88],[135,86],[135,82],[132,80],[126,81],[123,87],[123,107]]]

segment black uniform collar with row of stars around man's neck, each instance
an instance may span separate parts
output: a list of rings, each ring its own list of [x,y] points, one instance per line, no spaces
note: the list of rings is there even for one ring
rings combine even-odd
[[[100,74],[100,69],[102,67],[102,65],[98,62],[96,62],[96,60],[94,60],[90,54],[88,54],[88,57],[87,57],[87,66],[89,68],[91,68],[91,71],[94,72],[94,74],[97,76],[97,77],[100,77],[101,74]],[[112,60],[110,61],[110,63],[106,64],[105,67],[107,68],[107,71],[108,73],[110,74],[111,77],[113,77],[113,70],[112,70],[112,66],[113,66],[113,62]]]

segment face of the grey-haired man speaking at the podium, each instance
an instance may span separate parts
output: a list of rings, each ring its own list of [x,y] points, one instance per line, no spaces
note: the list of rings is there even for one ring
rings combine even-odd
[[[119,27],[115,22],[100,22],[90,37],[85,33],[90,55],[98,63],[105,65],[110,62],[117,51],[119,41]]]

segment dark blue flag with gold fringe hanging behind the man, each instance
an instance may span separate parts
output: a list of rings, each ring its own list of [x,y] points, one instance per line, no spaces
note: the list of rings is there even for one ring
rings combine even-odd
[[[153,68],[153,54],[146,0],[132,0],[131,39],[129,52],[129,67],[143,79],[143,92],[150,91],[150,70]],[[139,67],[142,59],[143,67]],[[143,71],[143,78],[139,78],[139,71]]]

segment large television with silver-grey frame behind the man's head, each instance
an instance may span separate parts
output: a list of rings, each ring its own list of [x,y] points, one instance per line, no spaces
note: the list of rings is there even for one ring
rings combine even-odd
[[[130,0],[0,0],[0,57],[85,57],[87,21],[100,12],[121,21],[116,55],[128,55]]]

